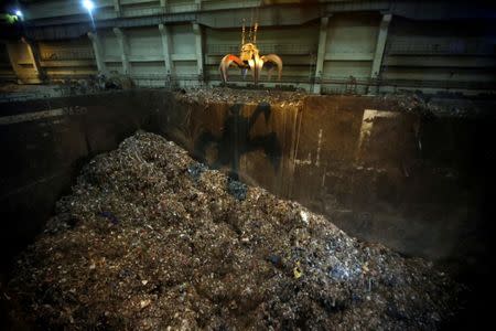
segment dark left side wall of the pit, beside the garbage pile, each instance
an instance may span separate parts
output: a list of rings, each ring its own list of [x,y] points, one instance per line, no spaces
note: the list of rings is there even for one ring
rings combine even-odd
[[[41,231],[80,167],[136,130],[153,130],[162,104],[141,90],[1,105],[2,266]]]

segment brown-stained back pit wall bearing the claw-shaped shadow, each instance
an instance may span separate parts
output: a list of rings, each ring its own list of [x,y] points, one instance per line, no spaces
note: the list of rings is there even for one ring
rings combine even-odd
[[[359,238],[436,260],[476,255],[487,244],[479,213],[490,121],[398,108],[355,96],[274,105],[174,99],[160,129],[197,159]]]

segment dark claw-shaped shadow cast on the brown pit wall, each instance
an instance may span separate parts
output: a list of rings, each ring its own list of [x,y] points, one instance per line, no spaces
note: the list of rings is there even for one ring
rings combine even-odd
[[[274,171],[281,163],[281,143],[274,131],[270,134],[252,136],[250,135],[257,119],[263,115],[265,124],[268,125],[271,116],[271,108],[268,103],[260,103],[249,117],[242,116],[242,104],[233,105],[224,121],[220,137],[213,132],[202,132],[194,143],[194,152],[201,160],[206,160],[206,151],[209,148],[217,150],[217,156],[212,163],[214,169],[229,167],[229,175],[233,179],[239,178],[239,160],[242,154],[262,150],[269,159]]]

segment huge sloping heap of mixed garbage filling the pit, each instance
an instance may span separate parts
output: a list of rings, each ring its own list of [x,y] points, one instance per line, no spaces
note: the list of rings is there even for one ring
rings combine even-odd
[[[72,330],[432,330],[459,292],[147,132],[84,168],[8,289],[11,316]]]

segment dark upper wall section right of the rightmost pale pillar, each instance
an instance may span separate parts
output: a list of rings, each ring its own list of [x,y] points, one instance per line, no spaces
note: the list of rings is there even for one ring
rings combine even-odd
[[[421,86],[425,81],[440,86],[443,82],[446,89],[462,83],[492,85],[496,58],[487,54],[494,52],[494,36],[489,36],[494,30],[483,20],[468,25],[463,21],[448,25],[440,21],[395,18],[389,30],[382,77],[397,81],[398,85],[417,81],[414,84]]]

